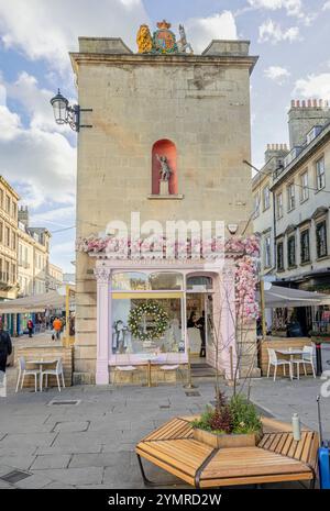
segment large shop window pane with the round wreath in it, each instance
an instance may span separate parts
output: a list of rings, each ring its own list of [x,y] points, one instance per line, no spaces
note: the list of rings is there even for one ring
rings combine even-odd
[[[112,354],[184,352],[182,298],[112,300],[111,351]]]

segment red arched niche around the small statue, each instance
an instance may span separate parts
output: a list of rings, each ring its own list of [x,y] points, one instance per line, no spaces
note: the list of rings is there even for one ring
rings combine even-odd
[[[172,170],[168,181],[168,193],[177,195],[178,192],[178,180],[177,180],[177,154],[176,146],[173,142],[167,138],[157,141],[153,145],[152,151],[152,195],[160,195],[160,170],[161,164],[157,159],[158,156],[166,156],[169,168]]]

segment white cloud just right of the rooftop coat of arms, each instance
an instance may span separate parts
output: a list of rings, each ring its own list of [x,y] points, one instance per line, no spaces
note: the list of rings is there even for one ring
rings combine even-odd
[[[235,19],[230,11],[209,18],[190,18],[185,25],[195,53],[206,49],[212,40],[238,38]]]

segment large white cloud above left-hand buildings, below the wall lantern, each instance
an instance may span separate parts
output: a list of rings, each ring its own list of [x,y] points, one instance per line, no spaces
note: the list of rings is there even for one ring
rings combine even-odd
[[[34,207],[75,201],[76,149],[61,133],[33,123],[23,127],[6,104],[0,105],[0,168],[10,182],[20,184],[25,202]]]

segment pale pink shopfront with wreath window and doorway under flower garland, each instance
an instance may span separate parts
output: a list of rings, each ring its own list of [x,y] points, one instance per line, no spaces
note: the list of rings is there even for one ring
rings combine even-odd
[[[229,311],[234,307],[234,279],[230,268],[206,271],[202,264],[187,260],[135,264],[99,258],[95,275],[99,385],[109,382],[109,374],[112,379],[114,367],[143,365],[151,355],[158,364],[185,365],[189,349],[193,357],[202,355],[215,366],[217,340],[234,343]],[[224,288],[231,302],[220,313],[215,303],[220,303]],[[220,325],[220,338],[215,335],[215,324]],[[229,344],[218,360],[223,370],[228,351]]]

